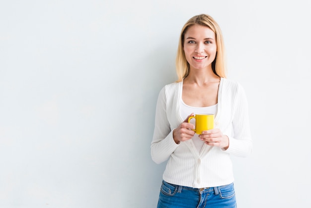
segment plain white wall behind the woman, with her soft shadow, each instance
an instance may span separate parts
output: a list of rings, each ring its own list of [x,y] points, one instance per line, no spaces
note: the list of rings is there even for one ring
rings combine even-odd
[[[155,208],[156,99],[199,13],[249,101],[238,207],[311,207],[310,1],[1,0],[0,208]]]

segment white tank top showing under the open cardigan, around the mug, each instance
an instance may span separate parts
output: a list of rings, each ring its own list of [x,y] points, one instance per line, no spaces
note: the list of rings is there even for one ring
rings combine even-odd
[[[182,119],[183,120],[186,119],[188,115],[190,115],[191,113],[194,113],[194,114],[208,113],[208,114],[215,114],[216,116],[217,104],[214,104],[208,107],[192,107],[192,106],[185,104],[183,101],[181,101],[180,116],[182,117]],[[195,124],[195,119],[191,119],[190,122]],[[197,148],[198,152],[200,152],[204,145],[204,141],[201,141],[198,134],[194,134],[194,136],[192,137],[192,141],[195,147]]]

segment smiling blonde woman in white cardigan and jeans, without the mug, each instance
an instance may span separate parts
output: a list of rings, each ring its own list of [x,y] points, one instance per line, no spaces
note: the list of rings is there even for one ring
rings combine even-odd
[[[230,155],[247,156],[252,142],[247,100],[226,79],[221,29],[209,15],[182,28],[176,57],[178,80],[166,85],[156,105],[152,159],[168,160],[158,208],[235,208]],[[189,116],[215,114],[214,129],[198,135]]]

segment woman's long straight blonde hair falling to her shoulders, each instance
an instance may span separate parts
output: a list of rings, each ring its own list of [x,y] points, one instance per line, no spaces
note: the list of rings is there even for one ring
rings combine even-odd
[[[207,14],[200,14],[190,18],[181,30],[176,55],[176,73],[178,77],[176,82],[181,82],[189,75],[190,72],[190,65],[186,60],[183,46],[185,33],[187,32],[188,28],[194,24],[207,26],[215,32],[217,53],[215,60],[212,62],[212,69],[217,76],[226,78],[226,52],[222,31],[217,22],[211,16]]]

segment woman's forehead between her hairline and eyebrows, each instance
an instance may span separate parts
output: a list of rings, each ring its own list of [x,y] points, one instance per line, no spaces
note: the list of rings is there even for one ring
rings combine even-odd
[[[209,28],[208,26],[203,26],[203,25],[199,25],[199,24],[194,24],[192,26],[190,26],[186,33],[185,33],[185,39],[188,37],[192,37],[192,38],[213,38],[215,39],[215,32]]]

